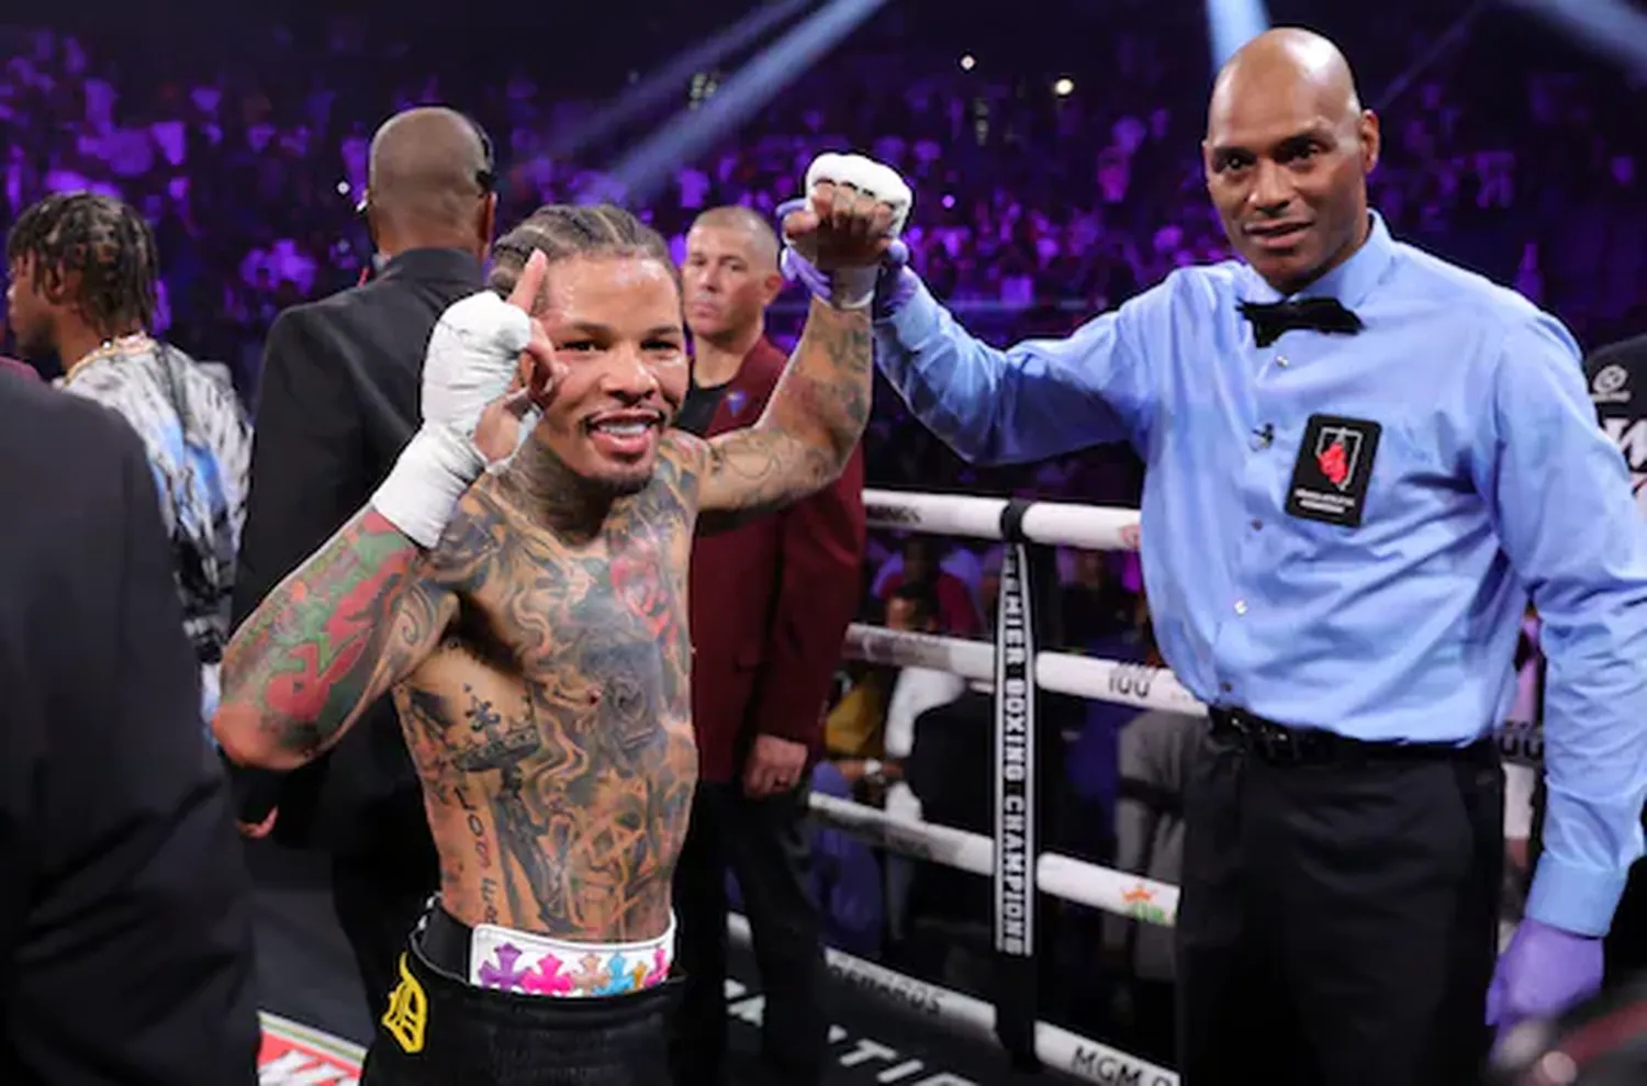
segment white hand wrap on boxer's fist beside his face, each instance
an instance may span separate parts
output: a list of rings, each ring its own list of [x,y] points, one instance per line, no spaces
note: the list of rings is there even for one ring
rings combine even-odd
[[[491,290],[441,313],[423,356],[423,427],[389,471],[372,508],[420,547],[440,542],[463,491],[486,470],[474,430],[509,391],[532,321]],[[520,433],[529,432],[522,420]]]

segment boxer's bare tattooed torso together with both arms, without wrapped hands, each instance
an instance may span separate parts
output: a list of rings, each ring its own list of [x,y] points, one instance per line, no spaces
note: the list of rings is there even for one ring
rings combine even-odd
[[[557,508],[578,489],[563,466],[534,483],[534,443],[464,494],[427,555],[361,513],[236,631],[219,737],[290,768],[394,689],[446,908],[575,941],[660,934],[697,778],[697,509],[771,509],[827,484],[871,372],[866,316],[814,305],[761,424],[710,443],[670,432],[651,483],[593,521]]]

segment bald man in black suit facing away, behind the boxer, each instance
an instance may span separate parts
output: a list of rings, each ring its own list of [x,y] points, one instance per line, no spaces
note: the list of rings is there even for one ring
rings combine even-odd
[[[377,274],[282,313],[268,330],[234,621],[343,526],[417,430],[423,351],[441,311],[484,285],[492,152],[450,109],[412,109],[372,138],[366,221]],[[394,707],[329,758],[275,781],[237,771],[250,836],[333,855],[333,905],[374,1017],[428,895],[435,849]]]

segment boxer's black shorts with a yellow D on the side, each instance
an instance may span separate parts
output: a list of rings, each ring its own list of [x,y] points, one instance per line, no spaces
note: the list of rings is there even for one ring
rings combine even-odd
[[[669,1083],[667,1018],[679,981],[637,976],[644,987],[608,982],[581,997],[550,994],[565,992],[550,984],[535,985],[544,994],[501,990],[469,981],[474,946],[474,929],[432,910],[400,957],[361,1086]],[[596,994],[619,987],[629,990]]]

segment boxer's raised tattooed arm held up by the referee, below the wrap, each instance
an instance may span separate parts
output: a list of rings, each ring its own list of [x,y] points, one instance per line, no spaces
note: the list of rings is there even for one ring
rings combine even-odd
[[[708,442],[698,491],[703,513],[763,513],[833,483],[863,437],[873,381],[868,313],[814,300],[766,414],[746,430]],[[703,524],[725,526],[725,516]]]

